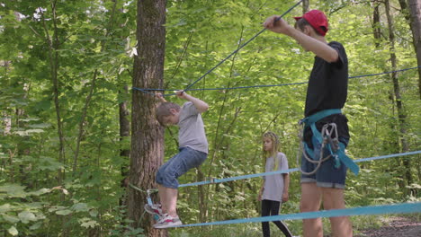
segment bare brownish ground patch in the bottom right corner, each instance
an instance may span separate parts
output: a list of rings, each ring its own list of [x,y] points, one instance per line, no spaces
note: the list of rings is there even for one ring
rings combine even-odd
[[[356,237],[421,237],[421,222],[416,218],[397,216],[380,229],[364,230]]]

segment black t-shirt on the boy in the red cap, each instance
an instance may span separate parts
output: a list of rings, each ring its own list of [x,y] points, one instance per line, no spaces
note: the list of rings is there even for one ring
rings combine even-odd
[[[328,63],[321,57],[315,57],[314,66],[309,76],[305,117],[320,110],[342,109],[345,105],[348,89],[348,58],[342,44],[328,43],[339,56],[335,63]]]

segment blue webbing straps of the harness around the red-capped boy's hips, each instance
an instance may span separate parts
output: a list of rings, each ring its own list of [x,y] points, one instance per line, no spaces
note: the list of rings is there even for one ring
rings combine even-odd
[[[316,122],[318,122],[318,120],[322,118],[326,118],[329,115],[340,114],[340,113],[342,113],[340,109],[321,110],[313,115],[310,115],[307,118],[301,119],[301,122],[305,124],[304,129],[306,127],[310,127],[311,131],[313,132],[313,136],[311,136],[311,143],[313,145],[313,149],[310,149],[309,145],[307,145],[307,143],[304,142],[305,152],[309,154],[311,159],[313,160],[322,159],[322,157],[315,156],[315,154],[320,151],[321,146],[323,144],[323,139],[324,138],[330,139],[330,137],[322,137],[321,133],[318,131],[318,128],[316,127]],[[336,137],[336,139],[337,138],[338,137]],[[354,163],[354,161],[351,158],[349,158],[345,154],[345,144],[343,144],[342,142],[339,142],[338,146],[339,146],[337,147],[338,149],[335,149],[334,147],[332,147],[330,143],[326,145],[327,151],[336,159],[335,167],[339,168],[339,166],[341,165],[340,162],[343,162],[346,167],[348,167],[351,171],[354,172],[355,175],[358,175],[360,168],[358,167],[358,165]]]

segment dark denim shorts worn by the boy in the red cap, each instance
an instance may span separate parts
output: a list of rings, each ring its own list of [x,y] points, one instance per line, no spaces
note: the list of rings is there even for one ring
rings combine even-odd
[[[318,127],[318,130],[321,130],[321,127],[323,127],[324,124],[331,122],[336,123],[339,141],[343,143],[346,147],[349,141],[349,132],[347,126],[347,119],[344,115],[337,114],[329,116],[327,118],[323,118],[316,123],[316,127]],[[310,148],[313,148],[313,145],[311,145],[311,142],[309,141],[311,140],[311,136],[312,133],[308,129],[304,131],[305,141],[307,142]],[[327,149],[325,149],[323,151],[323,157],[327,157],[328,154],[329,153],[327,152]],[[319,159],[318,156],[320,156],[320,152],[318,149],[316,149],[314,155],[316,156],[315,158]],[[343,162],[341,162],[341,165],[338,168],[335,168],[335,164],[335,158],[330,157],[327,161],[321,163],[316,173],[311,175],[301,173],[301,183],[316,182],[317,186],[322,188],[345,189],[347,167]],[[317,166],[317,163],[309,162],[304,157],[304,155],[301,156],[302,171],[311,172],[314,171]]]

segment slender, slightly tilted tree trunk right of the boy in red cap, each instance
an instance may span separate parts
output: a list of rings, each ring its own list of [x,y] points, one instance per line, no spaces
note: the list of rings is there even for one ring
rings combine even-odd
[[[389,26],[389,40],[390,40],[390,62],[392,65],[392,70],[396,71],[396,54],[395,54],[395,34],[393,32],[394,26],[393,26],[393,19],[390,15],[390,4],[389,0],[386,0],[384,2],[385,9],[386,9],[386,16],[388,18],[388,26]],[[399,80],[398,80],[398,74],[392,73],[391,75],[392,81],[393,81],[393,92],[395,96],[396,101],[396,107],[398,110],[398,118],[399,118],[399,142],[401,145],[402,152],[408,152],[408,141],[407,141],[407,115],[405,114],[404,108],[403,108],[403,102],[402,98],[400,96],[400,87],[399,87]],[[407,181],[407,184],[412,184],[412,175],[411,175],[411,164],[408,157],[404,157],[403,164],[405,166],[405,179]]]

